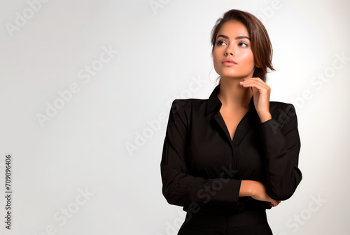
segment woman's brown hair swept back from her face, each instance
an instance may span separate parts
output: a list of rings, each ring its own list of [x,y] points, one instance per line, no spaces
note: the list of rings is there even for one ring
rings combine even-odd
[[[232,9],[224,13],[223,17],[216,20],[216,24],[211,31],[211,45],[213,46],[211,49],[211,55],[213,55],[214,52],[218,31],[225,22],[229,21],[241,22],[248,30],[251,41],[251,51],[253,52],[255,64],[253,77],[261,78],[261,80],[266,82],[267,68],[269,68],[271,71],[275,71],[274,67],[272,66],[272,45],[265,26],[251,13]]]

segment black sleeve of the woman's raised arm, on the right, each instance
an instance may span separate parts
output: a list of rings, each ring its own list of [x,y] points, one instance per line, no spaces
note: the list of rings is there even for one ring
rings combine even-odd
[[[266,187],[272,199],[286,200],[293,195],[302,180],[302,172],[297,166],[300,136],[293,104],[279,108],[276,119],[259,123],[265,152]]]

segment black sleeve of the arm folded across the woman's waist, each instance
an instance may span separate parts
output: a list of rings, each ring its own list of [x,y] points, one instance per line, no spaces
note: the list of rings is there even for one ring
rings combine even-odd
[[[194,177],[188,170],[186,145],[191,112],[185,102],[175,99],[169,114],[160,162],[162,194],[169,204],[184,208],[191,204],[233,206],[238,203],[241,180]]]

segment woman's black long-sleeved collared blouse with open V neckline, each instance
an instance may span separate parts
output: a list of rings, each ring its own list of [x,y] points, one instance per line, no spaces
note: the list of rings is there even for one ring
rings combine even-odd
[[[269,209],[266,201],[239,197],[241,180],[264,183],[272,199],[292,196],[302,180],[295,108],[270,101],[272,119],[260,122],[251,97],[232,141],[219,112],[220,85],[209,99],[173,101],[160,162],[162,194],[195,213]]]

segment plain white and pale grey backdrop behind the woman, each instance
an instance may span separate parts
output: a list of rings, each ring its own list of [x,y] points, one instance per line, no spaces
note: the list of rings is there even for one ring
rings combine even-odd
[[[271,100],[297,108],[303,179],[267,211],[272,231],[349,234],[343,0],[1,0],[1,234],[176,234],[185,213],[160,178],[169,108],[214,90],[211,29],[232,8],[265,24]]]

